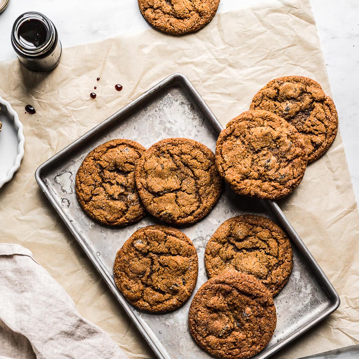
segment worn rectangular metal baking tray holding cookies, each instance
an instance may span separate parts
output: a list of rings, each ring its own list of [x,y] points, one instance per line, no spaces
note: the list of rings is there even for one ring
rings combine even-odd
[[[179,309],[167,314],[138,311],[126,302],[113,280],[116,252],[136,229],[158,223],[147,215],[123,228],[109,228],[94,222],[81,209],[75,195],[75,176],[87,153],[111,139],[126,138],[146,148],[168,137],[187,137],[215,151],[222,126],[188,79],[173,74],[135,101],[100,123],[78,140],[43,163],[36,180],[93,262],[104,281],[161,359],[211,358],[192,339],[187,325],[194,293],[208,280],[204,267],[206,243],[224,220],[238,214],[266,215],[288,233],[294,253],[292,275],[275,297],[278,323],[267,347],[256,359],[268,358],[303,334],[339,306],[339,296],[302,240],[275,202],[238,196],[226,187],[220,200],[200,222],[181,226],[193,241],[199,257],[199,275],[194,293]],[[308,199],[309,200],[309,199]]]

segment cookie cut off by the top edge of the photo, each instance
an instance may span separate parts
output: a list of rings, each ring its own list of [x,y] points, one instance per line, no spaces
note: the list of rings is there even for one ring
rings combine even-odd
[[[143,17],[155,28],[183,35],[208,24],[219,0],[138,0],[138,5]]]

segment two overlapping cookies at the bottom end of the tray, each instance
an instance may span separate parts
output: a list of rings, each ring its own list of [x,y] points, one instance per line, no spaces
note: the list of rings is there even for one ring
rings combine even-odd
[[[274,334],[272,297],[293,268],[288,237],[263,216],[230,218],[208,241],[205,267],[210,279],[192,300],[191,335],[218,358],[251,358]]]

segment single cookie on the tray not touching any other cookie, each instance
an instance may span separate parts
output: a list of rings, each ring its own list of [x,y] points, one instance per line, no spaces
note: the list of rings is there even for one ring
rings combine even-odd
[[[117,252],[113,273],[117,288],[133,306],[156,313],[172,311],[195,288],[196,248],[178,229],[144,227]]]

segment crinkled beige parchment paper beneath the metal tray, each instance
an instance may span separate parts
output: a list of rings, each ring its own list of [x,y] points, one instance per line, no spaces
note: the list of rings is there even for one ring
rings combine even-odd
[[[246,111],[257,90],[278,76],[309,76],[331,95],[309,0],[264,1],[217,14],[200,32],[183,37],[149,29],[67,48],[50,74],[33,74],[17,60],[0,64],[0,95],[18,112],[26,139],[19,171],[0,189],[0,241],[29,248],[79,312],[107,331],[130,358],[154,355],[40,191],[34,172],[175,72],[190,79],[223,125]],[[115,90],[117,83],[123,85],[121,92]],[[89,97],[93,91],[95,100]],[[24,113],[28,103],[36,115]],[[280,206],[336,288],[341,305],[273,358],[357,344],[359,215],[340,134]]]

